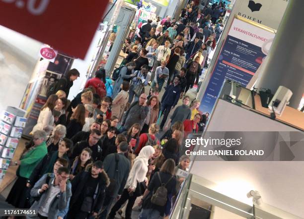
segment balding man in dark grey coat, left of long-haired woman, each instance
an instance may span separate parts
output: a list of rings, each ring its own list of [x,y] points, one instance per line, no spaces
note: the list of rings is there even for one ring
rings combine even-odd
[[[121,132],[129,130],[131,126],[135,123],[142,124],[148,115],[149,108],[147,107],[147,95],[142,94],[140,96],[139,101],[133,102],[131,104],[129,110],[127,110],[126,114],[122,120],[122,130]]]

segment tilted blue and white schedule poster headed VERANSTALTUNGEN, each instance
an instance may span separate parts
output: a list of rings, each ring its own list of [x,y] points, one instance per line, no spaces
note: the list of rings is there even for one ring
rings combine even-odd
[[[199,110],[204,113],[213,110],[225,79],[246,87],[266,56],[263,45],[274,36],[274,32],[234,18]]]

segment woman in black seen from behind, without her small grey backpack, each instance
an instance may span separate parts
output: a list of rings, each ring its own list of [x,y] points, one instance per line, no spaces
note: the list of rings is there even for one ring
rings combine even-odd
[[[164,215],[168,215],[166,212],[166,206],[168,203],[171,203],[171,199],[176,195],[176,177],[174,176],[174,168],[175,163],[172,159],[168,159],[165,163],[162,164],[160,171],[156,172],[146,189],[142,202],[143,209],[140,214],[140,218],[148,218],[148,216],[152,218],[159,218],[159,216],[163,217]],[[167,189],[167,203],[164,206],[155,205],[152,203],[152,194],[162,185],[165,184]]]

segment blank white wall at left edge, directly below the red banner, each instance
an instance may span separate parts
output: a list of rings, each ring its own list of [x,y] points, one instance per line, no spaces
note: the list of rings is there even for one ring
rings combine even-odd
[[[0,26],[0,110],[19,107],[42,43]]]

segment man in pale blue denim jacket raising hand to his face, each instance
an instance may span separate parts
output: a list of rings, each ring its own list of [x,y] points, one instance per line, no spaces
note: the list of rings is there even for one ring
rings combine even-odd
[[[47,182],[47,178],[49,181]],[[29,209],[35,211],[38,216],[27,216],[27,219],[58,219],[59,213],[69,206],[72,196],[69,169],[59,167],[55,175],[44,174],[31,189],[31,196],[39,198]]]

